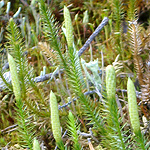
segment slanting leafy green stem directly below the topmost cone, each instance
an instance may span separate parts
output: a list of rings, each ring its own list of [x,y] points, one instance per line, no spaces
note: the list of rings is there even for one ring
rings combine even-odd
[[[66,30],[68,30],[68,28],[66,28]],[[89,97],[86,97],[82,92],[84,87],[84,81],[80,69],[80,62],[78,60],[78,53],[76,53],[75,47],[68,47],[68,49],[69,70],[68,68],[66,68],[66,72],[71,90],[79,98],[78,101],[82,104],[84,108],[84,113],[87,116],[86,119],[90,120],[90,124],[98,127],[100,129],[100,132],[105,132],[103,129],[102,122],[99,122],[100,115],[98,108],[96,108],[95,104],[92,104]]]

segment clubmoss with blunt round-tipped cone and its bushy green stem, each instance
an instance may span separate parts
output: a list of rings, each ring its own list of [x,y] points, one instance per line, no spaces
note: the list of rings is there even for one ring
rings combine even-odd
[[[112,65],[108,65],[106,67],[106,93],[107,93],[107,100],[108,100],[108,116],[107,116],[107,142],[110,141],[108,144],[110,149],[123,149],[125,150],[127,144],[125,144],[124,133],[120,128],[121,122],[119,113],[118,113],[118,106],[116,103],[116,74],[115,69]],[[107,143],[106,142],[106,143]]]

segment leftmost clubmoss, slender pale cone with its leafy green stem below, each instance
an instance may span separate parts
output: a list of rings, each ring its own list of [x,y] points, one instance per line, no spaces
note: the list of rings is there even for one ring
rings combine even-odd
[[[16,97],[16,111],[17,111],[17,121],[18,121],[18,131],[19,136],[21,137],[21,142],[23,147],[28,147],[32,149],[32,136],[33,133],[31,130],[33,129],[30,126],[29,120],[26,121],[27,114],[25,112],[26,108],[24,108],[24,104],[21,100],[21,89],[20,89],[20,83],[17,73],[16,64],[14,61],[14,58],[8,53],[8,62],[11,72],[11,78],[12,78],[12,85],[13,85],[13,92]],[[28,122],[28,123],[27,123]],[[30,128],[29,128],[30,126]]]

